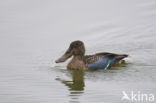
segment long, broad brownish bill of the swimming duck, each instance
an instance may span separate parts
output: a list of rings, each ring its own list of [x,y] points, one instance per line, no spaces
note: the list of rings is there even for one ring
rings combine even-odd
[[[56,63],[65,62],[71,56],[72,56],[71,50],[68,49],[67,52],[62,57],[60,57],[59,59],[57,59],[55,62]]]

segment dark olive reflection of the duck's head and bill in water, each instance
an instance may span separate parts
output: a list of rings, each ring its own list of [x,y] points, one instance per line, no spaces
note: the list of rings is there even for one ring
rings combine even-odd
[[[73,70],[71,71],[72,74],[72,81],[62,80],[58,78],[57,80],[61,81],[65,84],[69,89],[72,91],[83,91],[84,90],[84,72]]]

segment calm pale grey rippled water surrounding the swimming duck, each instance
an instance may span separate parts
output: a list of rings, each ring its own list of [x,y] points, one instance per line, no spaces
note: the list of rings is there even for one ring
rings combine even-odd
[[[0,13],[0,103],[128,103],[122,91],[156,96],[155,0],[5,0]],[[114,70],[67,70],[67,62],[54,61],[74,40],[84,41],[87,54],[130,57]]]

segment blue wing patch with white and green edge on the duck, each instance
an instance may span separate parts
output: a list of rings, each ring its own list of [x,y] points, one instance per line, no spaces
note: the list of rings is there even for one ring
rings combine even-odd
[[[96,62],[93,62],[91,64],[88,64],[88,68],[90,70],[94,69],[107,69],[108,67],[112,66],[114,64],[114,58],[107,58],[107,57],[102,57]]]

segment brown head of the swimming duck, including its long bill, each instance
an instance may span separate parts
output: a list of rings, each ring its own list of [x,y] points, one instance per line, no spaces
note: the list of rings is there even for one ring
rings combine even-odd
[[[71,56],[84,56],[84,54],[85,54],[85,46],[83,42],[80,40],[73,41],[70,44],[67,51],[65,52],[65,54],[59,59],[57,59],[55,62],[56,63],[64,62]]]

